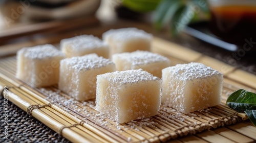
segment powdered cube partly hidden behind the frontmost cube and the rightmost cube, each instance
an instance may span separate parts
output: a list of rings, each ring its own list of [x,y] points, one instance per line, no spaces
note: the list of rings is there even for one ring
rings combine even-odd
[[[140,69],[156,77],[162,77],[162,69],[170,65],[170,60],[148,51],[135,51],[132,53],[119,53],[112,56],[117,70]]]

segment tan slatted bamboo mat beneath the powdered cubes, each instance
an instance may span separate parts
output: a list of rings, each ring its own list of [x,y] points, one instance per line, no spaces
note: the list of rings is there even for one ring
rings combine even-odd
[[[222,104],[188,114],[161,106],[156,116],[118,124],[99,114],[93,100],[78,102],[57,86],[31,88],[17,80],[15,56],[0,59],[0,88],[7,86],[9,101],[72,142],[164,142],[189,134],[197,135],[192,138],[207,140],[204,134],[212,134],[211,129],[246,120],[244,113],[228,108],[225,101],[231,92],[240,88],[255,92],[254,75],[160,38],[154,38],[152,52],[168,57],[172,65],[193,61],[221,71],[224,74]],[[204,130],[208,131],[198,134]],[[255,130],[248,136],[253,138],[253,134]],[[223,136],[226,141],[236,142],[235,135],[229,138],[222,135],[222,139]]]

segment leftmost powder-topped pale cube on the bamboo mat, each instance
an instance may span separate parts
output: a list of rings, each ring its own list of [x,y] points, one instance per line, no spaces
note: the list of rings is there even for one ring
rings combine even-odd
[[[24,47],[17,52],[16,78],[33,87],[57,84],[63,58],[65,54],[51,44]]]

